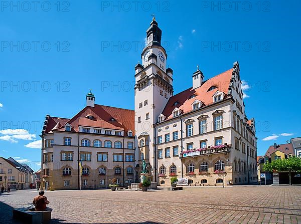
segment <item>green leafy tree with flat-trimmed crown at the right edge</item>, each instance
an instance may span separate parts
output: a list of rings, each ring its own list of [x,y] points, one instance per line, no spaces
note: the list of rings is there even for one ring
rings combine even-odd
[[[301,172],[301,158],[276,159],[272,162],[265,162],[263,168],[268,172],[288,171],[289,184],[291,185],[291,172]]]

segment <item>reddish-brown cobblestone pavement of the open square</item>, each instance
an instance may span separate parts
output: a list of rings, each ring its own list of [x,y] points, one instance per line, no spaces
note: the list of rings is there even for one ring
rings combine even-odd
[[[0,196],[1,223],[34,190]],[[186,187],[180,191],[48,191],[52,223],[301,223],[300,186]]]

